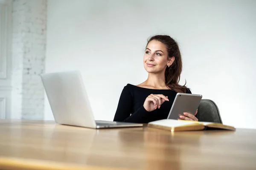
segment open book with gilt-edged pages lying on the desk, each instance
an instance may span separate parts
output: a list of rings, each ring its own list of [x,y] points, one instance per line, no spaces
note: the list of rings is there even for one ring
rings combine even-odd
[[[236,130],[235,127],[223,125],[221,123],[212,122],[196,122],[187,120],[175,120],[175,119],[163,119],[154,122],[149,122],[148,127],[155,127],[159,129],[174,131],[186,131],[186,130],[205,130],[209,128]]]

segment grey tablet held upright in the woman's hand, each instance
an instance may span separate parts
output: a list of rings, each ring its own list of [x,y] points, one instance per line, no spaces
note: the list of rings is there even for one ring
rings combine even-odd
[[[195,115],[200,104],[202,95],[177,93],[167,119],[179,119],[184,112]]]

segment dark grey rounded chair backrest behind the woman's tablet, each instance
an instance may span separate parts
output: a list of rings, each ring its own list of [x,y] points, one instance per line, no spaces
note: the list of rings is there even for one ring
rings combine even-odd
[[[201,99],[197,113],[198,121],[222,123],[218,106],[209,99]]]

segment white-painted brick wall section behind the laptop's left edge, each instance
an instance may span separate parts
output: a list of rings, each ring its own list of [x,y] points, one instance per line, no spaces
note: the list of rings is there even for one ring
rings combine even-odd
[[[12,113],[44,119],[47,0],[13,0]],[[12,116],[12,117],[15,117]]]

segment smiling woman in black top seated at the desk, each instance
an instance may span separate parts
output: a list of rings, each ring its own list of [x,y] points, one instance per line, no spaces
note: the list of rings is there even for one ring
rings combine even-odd
[[[178,92],[190,93],[179,85],[182,61],[177,42],[167,35],[156,35],[148,40],[143,57],[148,79],[139,84],[127,84],[119,99],[113,121],[148,123],[166,119]],[[180,119],[198,119],[189,113]]]

